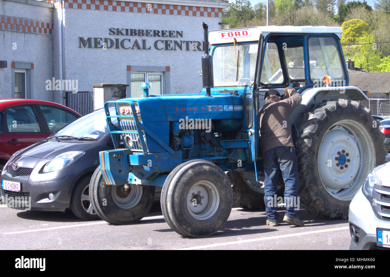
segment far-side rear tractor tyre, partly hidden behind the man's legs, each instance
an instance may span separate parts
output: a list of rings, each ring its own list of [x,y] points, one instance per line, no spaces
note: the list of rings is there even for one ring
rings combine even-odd
[[[227,173],[233,183],[233,206],[248,210],[265,210],[264,203],[264,176],[258,177],[254,172]],[[259,179],[260,178],[260,179]],[[284,194],[284,183],[280,180],[277,184],[277,196]]]

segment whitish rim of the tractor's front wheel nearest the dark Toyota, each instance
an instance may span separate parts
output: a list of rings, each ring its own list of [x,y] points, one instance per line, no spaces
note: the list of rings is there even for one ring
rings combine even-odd
[[[142,198],[142,186],[129,184],[125,190],[123,185],[113,185],[111,189],[112,200],[122,209],[131,209],[138,205]]]

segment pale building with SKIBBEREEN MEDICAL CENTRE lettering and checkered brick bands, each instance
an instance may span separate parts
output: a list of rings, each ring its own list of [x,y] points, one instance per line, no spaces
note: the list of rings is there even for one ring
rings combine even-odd
[[[197,93],[202,22],[209,30],[222,28],[222,9],[229,5],[227,0],[48,1],[0,1],[2,98],[65,104],[66,92],[90,92],[103,82],[128,84],[128,96],[140,95],[144,81],[152,84],[151,94]]]

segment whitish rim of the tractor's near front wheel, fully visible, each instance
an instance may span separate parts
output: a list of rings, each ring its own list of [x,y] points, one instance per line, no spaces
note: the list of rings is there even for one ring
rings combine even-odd
[[[215,185],[209,181],[195,183],[187,195],[187,208],[198,220],[211,218],[218,210],[220,196]]]

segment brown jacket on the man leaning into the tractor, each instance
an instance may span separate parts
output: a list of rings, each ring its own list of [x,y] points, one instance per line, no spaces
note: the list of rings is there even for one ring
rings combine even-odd
[[[301,101],[301,95],[293,88],[289,89],[290,97],[279,102],[267,101],[259,110],[260,113],[260,146],[261,152],[279,146],[293,146],[290,116]]]

